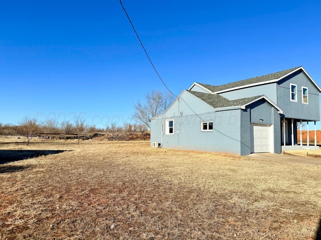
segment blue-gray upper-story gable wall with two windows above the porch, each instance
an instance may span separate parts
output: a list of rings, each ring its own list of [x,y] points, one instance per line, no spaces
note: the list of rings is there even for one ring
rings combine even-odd
[[[290,83],[297,85],[297,102],[290,101]],[[302,86],[308,88],[308,104],[302,103]],[[296,72],[277,82],[277,105],[288,118],[320,120],[319,91],[303,72]]]

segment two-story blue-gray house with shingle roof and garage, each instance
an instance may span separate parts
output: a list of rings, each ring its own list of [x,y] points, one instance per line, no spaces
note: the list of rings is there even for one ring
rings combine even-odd
[[[320,92],[302,66],[224,85],[194,82],[150,119],[151,146],[239,155],[304,149],[297,131],[306,122],[315,132]],[[316,138],[308,147],[318,148]]]

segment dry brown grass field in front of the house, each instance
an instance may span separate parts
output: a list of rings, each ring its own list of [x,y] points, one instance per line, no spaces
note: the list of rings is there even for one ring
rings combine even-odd
[[[1,239],[315,238],[320,166],[149,141],[16,141],[0,139],[0,162],[12,160],[0,163]]]

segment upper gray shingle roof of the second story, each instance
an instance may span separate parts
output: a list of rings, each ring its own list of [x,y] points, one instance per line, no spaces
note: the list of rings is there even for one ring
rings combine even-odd
[[[248,84],[253,84],[253,83],[258,83],[258,82],[264,82],[264,81],[269,81],[269,80],[273,80],[273,79],[277,79],[281,76],[284,76],[288,73],[290,73],[291,71],[299,68],[300,66],[297,67],[293,67],[287,70],[283,70],[283,71],[278,71],[278,72],[274,72],[274,73],[270,73],[270,74],[266,74],[263,76],[256,76],[256,77],[252,77],[249,79],[245,79],[245,80],[240,80],[240,81],[235,81],[235,82],[231,82],[231,83],[227,83],[227,84],[223,84],[223,85],[209,85],[209,84],[204,84],[204,83],[199,83],[200,85],[206,87],[207,89],[211,90],[212,92],[216,92],[216,91],[221,91],[221,90],[226,90],[226,89],[230,89],[233,87],[238,87],[238,86],[244,86],[244,85],[248,85]]]

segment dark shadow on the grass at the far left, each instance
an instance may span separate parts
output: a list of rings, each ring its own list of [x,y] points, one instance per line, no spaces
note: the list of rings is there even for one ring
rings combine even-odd
[[[66,150],[0,150],[0,164],[64,151]]]

